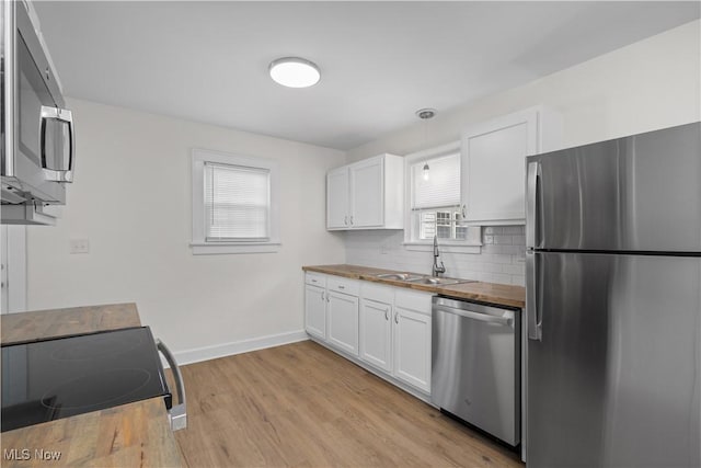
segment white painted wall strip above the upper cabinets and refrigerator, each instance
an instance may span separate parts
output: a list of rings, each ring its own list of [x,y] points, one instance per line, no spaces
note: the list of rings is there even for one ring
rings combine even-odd
[[[428,123],[426,140],[417,123],[349,150],[348,162],[456,141],[469,124],[537,104],[562,115],[563,147],[697,122],[701,119],[700,25],[693,21],[522,87],[452,110],[439,109]]]

